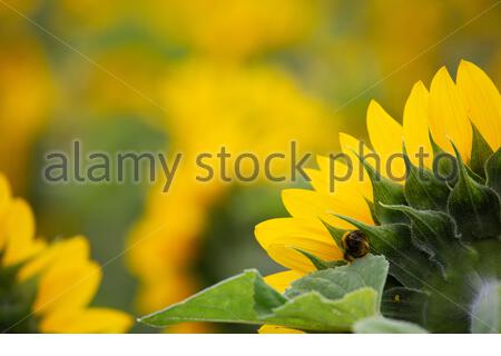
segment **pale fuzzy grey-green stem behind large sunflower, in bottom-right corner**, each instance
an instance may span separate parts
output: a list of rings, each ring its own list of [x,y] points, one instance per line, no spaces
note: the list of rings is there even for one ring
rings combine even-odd
[[[488,284],[472,305],[471,332],[473,334],[501,333],[501,285]]]

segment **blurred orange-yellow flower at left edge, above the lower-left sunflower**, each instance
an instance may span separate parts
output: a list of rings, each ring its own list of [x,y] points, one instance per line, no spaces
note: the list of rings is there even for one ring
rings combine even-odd
[[[0,39],[0,169],[14,191],[23,191],[32,145],[47,122],[53,88],[37,42],[23,27],[12,24],[10,30],[22,40]]]

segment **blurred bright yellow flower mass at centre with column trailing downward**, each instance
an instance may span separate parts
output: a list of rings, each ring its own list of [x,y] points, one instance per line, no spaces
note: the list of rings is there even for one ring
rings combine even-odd
[[[140,279],[141,313],[176,303],[199,288],[191,271],[199,237],[209,209],[230,184],[196,181],[200,172],[191,165],[195,155],[217,152],[225,146],[235,155],[253,152],[263,158],[287,151],[291,140],[303,151],[323,150],[334,131],[326,108],[285,72],[272,68],[196,62],[178,68],[165,88],[169,151],[184,152],[186,158],[168,194],[161,194],[160,186],[150,191],[144,218],[130,237],[128,257]],[[228,158],[229,166],[233,161]],[[278,175],[288,174],[289,168],[274,169]],[[233,171],[228,175],[235,178]]]

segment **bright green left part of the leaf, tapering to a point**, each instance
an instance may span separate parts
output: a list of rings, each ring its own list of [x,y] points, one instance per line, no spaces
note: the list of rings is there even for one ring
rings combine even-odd
[[[139,322],[156,327],[186,322],[261,324],[259,315],[285,301],[256,270],[246,270]]]

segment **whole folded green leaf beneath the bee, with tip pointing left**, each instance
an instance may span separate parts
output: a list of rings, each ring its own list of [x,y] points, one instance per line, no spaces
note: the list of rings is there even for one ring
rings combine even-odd
[[[384,257],[369,255],[307,275],[284,295],[256,270],[247,270],[140,322],[156,327],[196,320],[351,332],[356,322],[380,315],[387,268]]]

